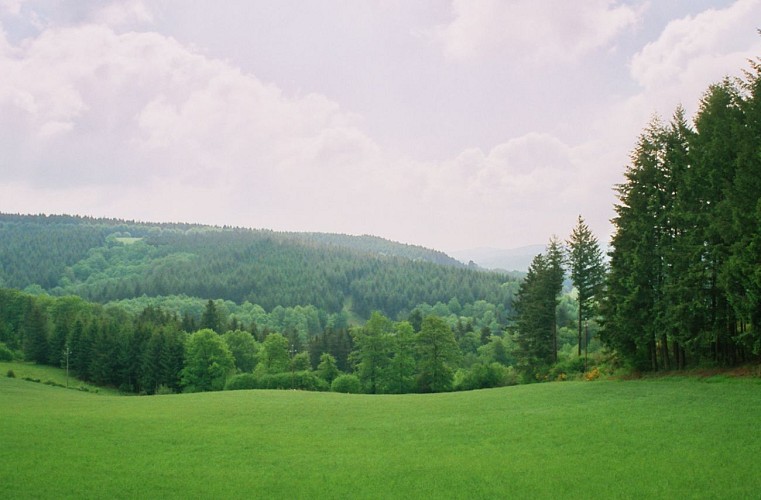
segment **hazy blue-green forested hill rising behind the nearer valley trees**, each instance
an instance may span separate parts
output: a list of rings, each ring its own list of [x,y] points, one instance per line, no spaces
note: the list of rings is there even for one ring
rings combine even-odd
[[[0,287],[109,302],[187,295],[271,310],[389,316],[422,303],[509,305],[508,276],[370,236],[0,214]]]

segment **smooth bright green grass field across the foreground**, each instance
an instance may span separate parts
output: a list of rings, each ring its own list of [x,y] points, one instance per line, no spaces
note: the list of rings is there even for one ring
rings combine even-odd
[[[126,397],[0,378],[3,498],[758,498],[761,384]]]

